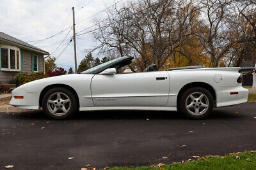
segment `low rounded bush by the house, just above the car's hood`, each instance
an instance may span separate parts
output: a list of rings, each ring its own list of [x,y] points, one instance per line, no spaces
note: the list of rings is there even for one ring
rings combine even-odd
[[[39,80],[42,78],[47,78],[47,76],[44,73],[19,73],[16,76],[16,85],[17,87],[20,85],[24,85],[25,83],[28,83],[30,81]]]

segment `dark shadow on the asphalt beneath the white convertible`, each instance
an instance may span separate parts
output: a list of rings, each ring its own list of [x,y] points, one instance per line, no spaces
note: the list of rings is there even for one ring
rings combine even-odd
[[[44,111],[28,111],[23,113],[10,113],[14,118],[29,120],[51,120],[45,116]],[[235,119],[246,117],[246,115],[237,115],[234,111],[214,110],[208,119]],[[188,120],[182,113],[177,111],[79,111],[76,115],[68,120],[147,120],[147,119],[169,119],[169,120]],[[68,121],[67,120],[67,121]],[[191,120],[193,121],[193,120]]]

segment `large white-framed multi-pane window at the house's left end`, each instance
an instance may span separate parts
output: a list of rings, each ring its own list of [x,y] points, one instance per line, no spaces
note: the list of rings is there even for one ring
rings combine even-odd
[[[1,70],[20,71],[20,50],[15,46],[1,45]]]

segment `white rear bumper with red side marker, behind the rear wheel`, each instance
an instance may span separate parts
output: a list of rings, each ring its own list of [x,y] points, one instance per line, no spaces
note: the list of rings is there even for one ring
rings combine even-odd
[[[238,92],[238,94],[230,95],[230,92]],[[216,90],[216,107],[246,103],[248,94],[249,90],[244,89],[242,86],[218,87]]]

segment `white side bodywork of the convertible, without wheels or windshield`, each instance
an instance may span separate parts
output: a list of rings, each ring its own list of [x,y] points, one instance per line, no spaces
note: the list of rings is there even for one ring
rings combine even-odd
[[[42,90],[66,85],[76,91],[80,110],[177,110],[177,97],[189,83],[205,83],[214,89],[216,107],[244,103],[248,90],[237,83],[240,67],[180,69],[129,74],[67,74],[36,80],[12,92],[10,104],[40,109]],[[166,78],[156,80],[156,78]],[[238,92],[230,95],[230,92]],[[42,94],[43,95],[43,94]]]

